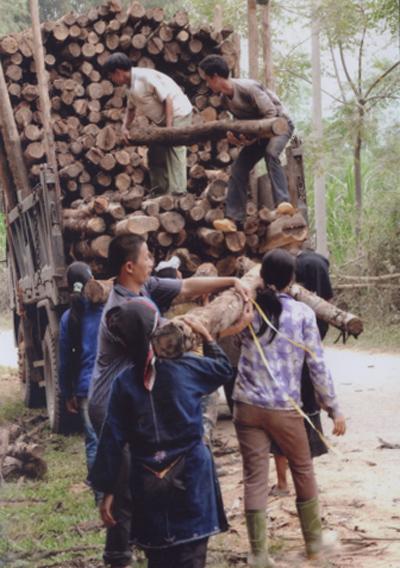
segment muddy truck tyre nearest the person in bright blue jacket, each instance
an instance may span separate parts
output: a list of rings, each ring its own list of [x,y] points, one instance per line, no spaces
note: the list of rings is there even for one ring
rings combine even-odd
[[[66,430],[67,411],[58,386],[56,349],[56,342],[50,328],[47,326],[42,341],[46,405],[50,428],[56,434],[62,434]]]

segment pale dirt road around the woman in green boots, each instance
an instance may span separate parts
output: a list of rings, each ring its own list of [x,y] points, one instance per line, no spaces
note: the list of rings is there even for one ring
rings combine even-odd
[[[341,544],[329,561],[316,565],[399,568],[400,356],[348,347],[327,348],[326,354],[348,432],[342,438],[331,436],[332,422],[325,414],[325,434],[341,455],[330,452],[314,463],[324,526],[339,532]],[[216,438],[223,451],[236,446],[230,420],[219,421]],[[386,443],[397,448],[386,447]],[[240,457],[228,453],[216,459],[226,472],[220,481],[232,525],[228,550],[234,551],[238,560],[244,559]],[[270,485],[275,481],[271,460]],[[270,541],[283,539],[283,547],[273,554],[278,568],[310,565],[304,557],[291,487],[289,496],[271,497],[268,504]]]

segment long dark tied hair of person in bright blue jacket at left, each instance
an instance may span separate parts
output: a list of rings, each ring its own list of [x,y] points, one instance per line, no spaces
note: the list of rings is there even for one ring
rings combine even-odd
[[[86,282],[92,277],[90,267],[84,262],[73,262],[67,269],[68,288],[70,296],[70,312],[68,316],[68,338],[71,346],[72,364],[79,364],[82,352],[82,317],[85,312],[85,302],[82,292]]]

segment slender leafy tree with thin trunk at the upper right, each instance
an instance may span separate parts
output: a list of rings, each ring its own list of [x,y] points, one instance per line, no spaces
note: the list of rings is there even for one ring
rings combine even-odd
[[[339,88],[334,126],[353,149],[357,235],[362,214],[362,149],[371,135],[379,133],[377,111],[400,100],[400,61],[377,53],[371,57],[377,37],[381,45],[385,34],[386,41],[393,37],[395,5],[395,0],[323,0],[319,8],[332,75]]]

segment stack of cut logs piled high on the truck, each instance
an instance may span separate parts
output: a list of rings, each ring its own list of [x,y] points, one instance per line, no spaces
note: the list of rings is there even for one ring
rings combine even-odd
[[[132,2],[125,11],[120,0],[108,0],[84,15],[71,12],[57,22],[42,24],[68,262],[85,260],[97,276],[104,277],[112,236],[137,232],[148,235],[156,260],[178,254],[184,271],[190,273],[201,262],[218,259],[219,273],[226,275],[234,270],[239,254],[252,257],[277,244],[290,246],[305,240],[307,230],[300,214],[281,219],[271,229],[271,212],[257,211],[252,204],[243,231],[224,235],[213,229],[212,222],[224,216],[227,172],[238,151],[226,138],[188,147],[189,193],[181,199],[147,199],[147,148],[121,144],[124,90],[102,76],[106,58],[122,51],[133,65],[168,74],[190,98],[195,124],[223,120],[228,118],[226,111],[219,96],[207,89],[198,64],[206,55],[218,53],[234,70],[238,56],[235,42],[228,40],[232,32],[230,26],[216,32],[206,24],[191,25],[185,12],[165,22],[161,8],[146,10],[139,2]],[[32,50],[29,30],[0,39],[8,92],[33,186],[46,156]],[[149,122],[142,115],[136,124],[147,127]],[[290,234],[287,242],[286,234]]]

